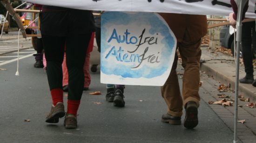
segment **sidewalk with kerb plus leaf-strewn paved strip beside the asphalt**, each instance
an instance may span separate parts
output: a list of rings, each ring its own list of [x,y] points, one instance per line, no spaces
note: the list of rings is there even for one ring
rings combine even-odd
[[[231,102],[234,101],[235,93],[232,92],[235,89],[236,82],[236,64],[234,57],[221,52],[213,52],[214,50],[211,50],[209,47],[202,47],[201,49],[201,59],[205,60],[205,62],[201,63],[201,73],[205,73],[201,74],[201,81],[203,83],[200,88],[200,96],[202,100],[204,100],[205,103],[209,101],[219,101],[222,100],[219,98],[219,95],[224,94],[229,96]],[[239,69],[239,78],[242,78],[245,76],[243,64],[240,64]],[[230,86],[231,90],[224,92],[217,90],[221,84]],[[253,87],[251,84],[239,83],[238,95],[243,95],[245,98],[249,98],[250,102],[256,103],[256,87]],[[245,120],[245,122],[243,124],[237,124],[237,135],[243,143],[255,143],[256,108],[245,106],[248,104],[249,102],[238,99],[238,120]],[[222,119],[224,124],[226,124],[230,130],[234,131],[234,105],[225,107],[217,104],[208,105],[216,112],[217,116]]]

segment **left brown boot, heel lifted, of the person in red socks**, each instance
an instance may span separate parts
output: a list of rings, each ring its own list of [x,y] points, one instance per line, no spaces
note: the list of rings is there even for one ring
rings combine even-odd
[[[47,115],[45,122],[58,123],[59,118],[65,116],[64,105],[62,102],[58,102],[55,106],[52,106],[50,113]]]

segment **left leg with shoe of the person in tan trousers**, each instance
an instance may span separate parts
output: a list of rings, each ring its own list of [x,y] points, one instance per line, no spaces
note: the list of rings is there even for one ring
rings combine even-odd
[[[178,56],[177,53],[175,53],[175,59],[170,75],[165,84],[161,87],[162,98],[167,104],[167,114],[162,115],[162,122],[169,124],[181,124],[182,96],[176,73],[177,62]]]

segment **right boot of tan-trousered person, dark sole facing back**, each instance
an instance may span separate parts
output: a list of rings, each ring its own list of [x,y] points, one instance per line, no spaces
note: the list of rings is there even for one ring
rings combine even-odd
[[[185,128],[195,128],[198,124],[198,111],[197,111],[197,105],[194,101],[189,101],[186,104],[186,116],[184,119],[184,127]]]

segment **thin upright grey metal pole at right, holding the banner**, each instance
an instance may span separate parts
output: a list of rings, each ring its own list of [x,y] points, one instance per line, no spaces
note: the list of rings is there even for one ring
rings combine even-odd
[[[242,41],[242,16],[243,8],[248,0],[235,0],[238,7],[236,18],[236,86],[235,86],[235,118],[234,118],[234,143],[237,143],[237,120],[238,120],[238,89],[239,89],[239,62]]]

